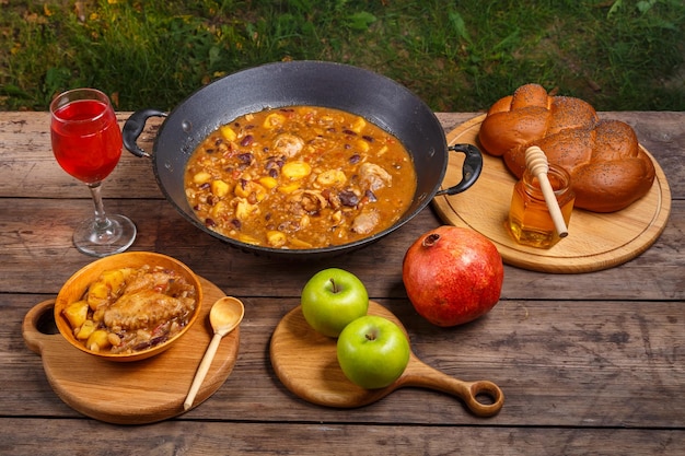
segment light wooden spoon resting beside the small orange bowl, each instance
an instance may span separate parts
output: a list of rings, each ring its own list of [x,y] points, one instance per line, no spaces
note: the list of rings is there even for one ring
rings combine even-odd
[[[244,315],[245,306],[240,300],[232,296],[223,296],[211,306],[209,323],[214,330],[214,336],[211,338],[209,347],[207,347],[205,356],[202,358],[200,366],[197,369],[197,373],[193,379],[193,384],[190,385],[188,396],[186,397],[185,402],[183,402],[184,410],[189,410],[190,407],[193,407],[195,396],[200,389],[200,385],[202,384],[202,381],[205,381],[209,366],[214,359],[214,354],[219,348],[219,342],[221,342],[221,339],[225,335],[240,325]]]

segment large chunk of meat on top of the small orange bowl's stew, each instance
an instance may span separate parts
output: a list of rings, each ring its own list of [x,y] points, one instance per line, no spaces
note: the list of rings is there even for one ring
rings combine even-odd
[[[184,318],[195,308],[191,297],[172,297],[154,290],[126,293],[104,314],[109,328],[136,330],[154,327],[174,318]]]

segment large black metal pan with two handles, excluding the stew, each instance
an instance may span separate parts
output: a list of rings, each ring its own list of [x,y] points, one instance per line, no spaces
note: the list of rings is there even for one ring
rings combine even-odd
[[[293,105],[347,110],[394,135],[407,148],[417,173],[417,190],[405,214],[387,230],[340,246],[314,249],[277,249],[244,244],[209,230],[198,220],[185,196],[184,171],[196,147],[213,130],[236,117],[266,108]],[[152,154],[137,144],[146,121],[165,116]],[[471,187],[483,168],[483,156],[471,144],[448,147],[432,110],[395,81],[358,67],[323,62],[269,63],[219,79],[195,92],[169,115],[158,109],[133,113],[124,126],[124,144],[138,156],[152,159],[154,175],[166,199],[195,226],[244,250],[289,258],[332,256],[374,242],[411,220],[438,194],[454,195]],[[449,151],[466,155],[461,183],[440,189]]]

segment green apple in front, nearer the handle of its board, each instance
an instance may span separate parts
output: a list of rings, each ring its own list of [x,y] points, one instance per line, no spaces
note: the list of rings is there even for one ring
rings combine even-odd
[[[337,344],[340,369],[362,388],[384,388],[395,382],[409,363],[409,340],[387,318],[367,315],[342,329]]]

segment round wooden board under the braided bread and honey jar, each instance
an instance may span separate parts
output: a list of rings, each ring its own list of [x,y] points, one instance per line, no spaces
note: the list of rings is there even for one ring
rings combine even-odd
[[[471,143],[483,150],[477,137],[484,119],[485,115],[478,116],[451,131],[449,144]],[[608,269],[647,250],[663,232],[671,213],[666,177],[654,157],[645,152],[657,171],[650,191],[618,212],[573,210],[568,237],[549,249],[520,245],[509,235],[504,222],[516,180],[500,157],[484,153],[483,173],[473,187],[463,194],[436,197],[432,203],[444,223],[475,230],[492,241],[508,265],[559,273]],[[444,188],[460,180],[462,162],[461,154],[450,154]]]

